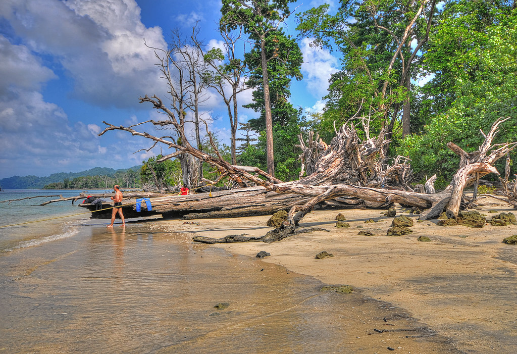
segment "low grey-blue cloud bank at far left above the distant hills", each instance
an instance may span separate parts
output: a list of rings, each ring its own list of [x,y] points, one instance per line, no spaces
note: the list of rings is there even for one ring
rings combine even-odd
[[[70,167],[65,162],[75,163],[79,156],[97,157],[100,148],[89,127],[70,124],[59,106],[36,91],[11,91],[0,99],[0,131],[4,177],[12,175],[9,171],[50,174],[57,165]]]

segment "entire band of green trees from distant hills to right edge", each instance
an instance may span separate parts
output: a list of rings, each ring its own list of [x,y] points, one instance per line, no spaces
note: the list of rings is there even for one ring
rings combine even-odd
[[[223,55],[221,50],[214,56],[216,49],[204,57],[207,63],[217,57],[220,66],[189,64],[174,55],[169,60],[179,60],[175,62],[178,68],[193,65],[189,67],[191,72],[196,72],[208,86],[220,87],[222,93],[231,86],[227,74],[247,68],[246,79],[235,76],[234,82],[244,81],[252,90],[253,102],[246,107],[259,116],[241,123],[242,131],[246,131],[242,137],[232,136],[232,144],[242,142],[241,146],[232,146],[238,152],[238,165],[269,170],[268,142],[272,137],[275,176],[284,181],[298,179],[299,135],[307,137],[309,131],[314,131],[329,144],[335,127],[354,124],[361,131],[362,118],[363,123],[367,120],[370,137],[381,131],[389,136],[389,157],[410,159],[414,182],[436,173],[440,188],[459,165],[459,158],[447,143],[453,142],[467,152],[475,151],[484,139],[483,132],[488,132],[499,117],[511,119],[500,127],[494,143],[517,141],[515,1],[341,0],[335,12],[324,4],[302,13],[289,9],[291,0],[254,2],[257,8],[240,6],[233,0],[222,3],[221,35],[243,30],[247,37],[238,39],[255,44],[240,58],[235,52]],[[281,17],[291,15],[296,17],[296,36],[275,26]],[[328,50],[340,60],[340,70],[331,75],[328,83],[325,107],[318,113],[303,112],[290,102],[292,79],[303,79],[300,68],[304,61],[298,48],[303,38],[310,38],[314,47]],[[188,95],[187,91],[181,92],[173,102],[183,102]],[[242,105],[237,96],[232,100],[234,107]],[[229,102],[228,99],[226,103]],[[201,104],[185,104],[178,108],[180,117],[185,116],[187,106],[193,112],[202,109]],[[236,111],[232,113],[229,108],[229,112],[237,119]],[[207,143],[207,136],[199,136],[199,129],[196,134],[197,148],[210,152],[212,145]],[[367,133],[363,130],[359,134],[366,137]],[[217,141],[217,133],[210,137]],[[215,146],[222,158],[232,161],[229,147],[218,141]],[[512,152],[512,160],[516,154]],[[44,179],[11,177],[0,183],[3,188],[41,188],[52,183],[47,188],[78,189],[111,188],[114,183],[126,188],[154,184],[163,190],[186,181],[197,183],[201,177],[216,177],[209,166],[203,165],[201,170],[190,166],[189,172],[182,174],[183,165],[177,159],[159,162],[160,158],[150,158],[132,171],[54,174]],[[503,160],[496,164],[500,172]],[[515,165],[511,168],[511,174],[517,172]],[[199,176],[186,177],[192,171],[200,171]]]

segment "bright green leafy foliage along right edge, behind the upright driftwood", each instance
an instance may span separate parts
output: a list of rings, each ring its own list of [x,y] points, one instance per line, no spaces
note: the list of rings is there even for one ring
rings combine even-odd
[[[517,141],[517,13],[480,1],[454,2],[444,13],[425,58],[437,75],[424,94],[438,107],[428,111],[434,115],[424,134],[407,136],[398,152],[412,159],[419,175],[450,177],[459,159],[448,142],[477,150],[480,129],[488,132],[499,117],[511,119],[493,143]]]

